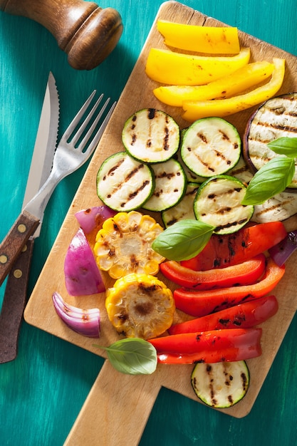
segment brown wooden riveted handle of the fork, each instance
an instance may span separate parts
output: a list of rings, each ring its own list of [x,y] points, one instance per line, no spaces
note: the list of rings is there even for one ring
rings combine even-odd
[[[38,224],[39,219],[24,210],[0,244],[0,285]]]

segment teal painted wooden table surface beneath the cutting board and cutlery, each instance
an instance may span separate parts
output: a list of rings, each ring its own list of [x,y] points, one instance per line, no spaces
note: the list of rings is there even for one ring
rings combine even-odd
[[[294,0],[183,3],[297,56]],[[94,88],[118,99],[162,1],[98,4],[118,9],[125,30],[115,51],[92,71],[71,68],[66,54],[41,25],[0,13],[0,239],[21,209],[48,72],[56,77],[60,93],[62,134],[73,111]],[[84,171],[85,167],[63,180],[48,204],[34,249],[29,293]],[[1,286],[0,304],[3,294]],[[231,418],[162,388],[140,446],[296,444],[296,337],[295,316],[245,418]],[[24,322],[16,360],[0,365],[0,445],[63,445],[102,365],[102,358]]]

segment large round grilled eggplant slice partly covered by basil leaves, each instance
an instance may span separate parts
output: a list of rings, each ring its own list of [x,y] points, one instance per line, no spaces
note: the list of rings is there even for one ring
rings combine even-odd
[[[297,93],[266,101],[249,119],[244,133],[244,158],[255,173],[276,154],[268,143],[282,137],[297,137]],[[297,168],[291,188],[297,187]]]

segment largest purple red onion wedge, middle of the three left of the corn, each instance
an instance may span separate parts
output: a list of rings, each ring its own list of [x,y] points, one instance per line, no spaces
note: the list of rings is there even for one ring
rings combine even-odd
[[[103,293],[105,285],[83,229],[79,228],[66,252],[66,289],[71,296]]]

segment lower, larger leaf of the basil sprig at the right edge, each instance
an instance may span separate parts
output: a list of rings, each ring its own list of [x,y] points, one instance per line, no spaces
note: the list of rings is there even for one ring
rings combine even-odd
[[[274,157],[256,172],[246,188],[241,204],[262,204],[288,187],[295,174],[291,157]]]

